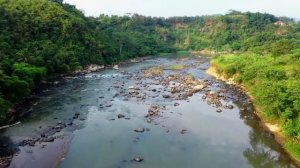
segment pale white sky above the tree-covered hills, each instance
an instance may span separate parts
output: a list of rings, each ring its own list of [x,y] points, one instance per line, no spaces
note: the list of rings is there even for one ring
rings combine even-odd
[[[87,16],[196,16],[225,14],[230,9],[300,18],[300,0],[64,0]]]

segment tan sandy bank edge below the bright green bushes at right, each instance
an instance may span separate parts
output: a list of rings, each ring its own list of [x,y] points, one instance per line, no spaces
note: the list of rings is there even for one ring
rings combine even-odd
[[[221,59],[224,59],[223,58]],[[220,58],[217,58],[218,61],[220,61]],[[207,70],[207,73],[216,77],[216,79],[222,80],[230,85],[235,85],[239,88],[242,88],[242,90],[251,98],[253,105],[255,107],[255,113],[257,116],[261,119],[260,125],[265,130],[271,132],[274,135],[274,139],[282,145],[284,150],[291,156],[291,158],[300,165],[300,158],[299,158],[299,151],[297,151],[297,144],[293,143],[292,145],[295,147],[287,147],[287,144],[294,141],[292,137],[286,136],[284,133],[284,128],[282,127],[283,123],[280,121],[280,119],[274,119],[266,116],[266,113],[262,110],[263,108],[258,105],[255,99],[255,96],[251,94],[251,88],[249,86],[244,85],[243,82],[237,83],[236,81],[241,81],[241,74],[239,74],[238,68],[234,67],[234,61],[230,61],[230,63],[224,63],[222,65],[219,65],[218,61],[213,61],[210,68]],[[223,61],[223,60],[222,60]],[[241,65],[236,65],[241,66]],[[255,79],[254,79],[255,80]],[[252,88],[253,89],[253,88]],[[253,91],[252,91],[253,92]]]

